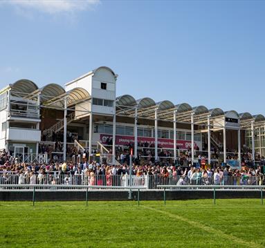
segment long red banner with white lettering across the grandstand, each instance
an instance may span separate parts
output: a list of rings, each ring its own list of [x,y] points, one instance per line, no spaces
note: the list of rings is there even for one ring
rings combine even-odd
[[[138,137],[138,142],[154,144],[154,137]],[[100,142],[102,144],[112,144],[112,135],[100,134]],[[199,143],[199,142],[198,142]],[[194,146],[198,146],[197,142],[194,142]],[[134,144],[134,136],[116,135],[116,144],[120,146],[129,146],[129,144]],[[186,140],[177,140],[176,146],[179,149],[188,149],[192,142]],[[158,138],[158,147],[161,148],[174,148],[174,140]]]

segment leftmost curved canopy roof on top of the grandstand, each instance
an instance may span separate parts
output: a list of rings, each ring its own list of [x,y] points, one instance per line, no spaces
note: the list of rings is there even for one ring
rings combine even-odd
[[[11,88],[11,93],[15,93],[16,95],[25,96],[37,90],[38,86],[34,82],[28,79],[20,79],[14,84],[10,84],[10,88]]]

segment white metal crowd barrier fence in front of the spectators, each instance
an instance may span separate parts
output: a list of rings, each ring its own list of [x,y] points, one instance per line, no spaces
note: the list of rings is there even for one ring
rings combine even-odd
[[[71,173],[50,172],[47,174],[14,174],[2,173],[0,184],[44,184],[44,185],[88,185],[88,186],[120,186],[120,187],[145,187],[145,189],[158,189],[158,185],[264,185],[262,175],[226,175],[200,176],[198,174],[188,176],[163,176],[157,175],[132,175],[131,184],[128,174],[125,175],[84,175]]]

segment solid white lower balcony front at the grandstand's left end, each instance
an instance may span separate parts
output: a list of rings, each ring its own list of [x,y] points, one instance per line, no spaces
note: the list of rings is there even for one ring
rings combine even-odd
[[[41,131],[36,129],[26,129],[26,128],[8,128],[7,140],[40,142]]]

